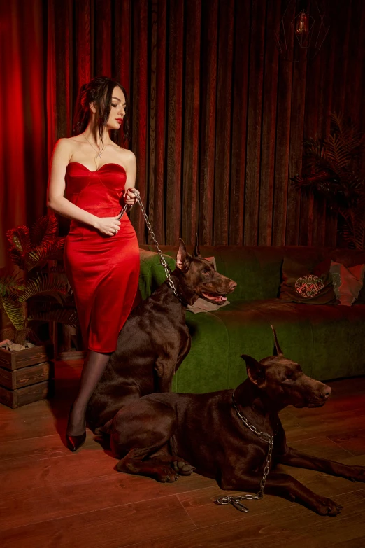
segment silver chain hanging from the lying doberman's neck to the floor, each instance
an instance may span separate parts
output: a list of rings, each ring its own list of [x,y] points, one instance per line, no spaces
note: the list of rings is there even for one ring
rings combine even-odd
[[[233,402],[234,408],[236,409],[236,413],[238,414],[238,416],[241,419],[241,421],[243,422],[243,424],[245,426],[247,426],[247,428],[249,428],[249,430],[251,430],[251,432],[253,432],[257,436],[259,436],[259,438],[261,438],[261,440],[263,440],[264,442],[269,444],[269,451],[268,451],[268,454],[266,456],[266,463],[265,463],[265,467],[264,467],[264,475],[262,476],[262,480],[259,484],[259,491],[256,495],[249,495],[249,494],[248,495],[238,495],[238,496],[229,495],[229,496],[217,498],[217,499],[215,499],[214,502],[215,502],[215,504],[231,504],[237,510],[240,510],[240,512],[248,512],[249,511],[248,507],[241,504],[241,500],[260,500],[264,496],[264,487],[265,487],[265,484],[266,484],[266,477],[270,472],[271,458],[273,456],[273,439],[274,439],[274,436],[271,436],[270,434],[267,434],[266,432],[261,432],[260,430],[257,430],[257,428],[255,428],[255,426],[253,426],[253,424],[250,424],[248,422],[248,420],[245,418],[245,416],[243,416],[243,414],[241,414],[240,410],[238,409],[238,407],[236,405],[236,402],[234,400],[234,393],[232,394],[232,402]],[[275,435],[275,433],[274,433],[274,435]]]

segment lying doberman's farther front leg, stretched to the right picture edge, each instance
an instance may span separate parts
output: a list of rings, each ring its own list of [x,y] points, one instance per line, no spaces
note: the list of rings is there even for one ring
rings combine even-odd
[[[365,466],[348,466],[335,461],[328,461],[325,458],[317,458],[296,451],[292,447],[287,447],[285,454],[278,455],[277,463],[287,464],[289,466],[297,466],[298,468],[309,468],[310,470],[318,470],[334,476],[345,477],[358,482],[365,482]]]

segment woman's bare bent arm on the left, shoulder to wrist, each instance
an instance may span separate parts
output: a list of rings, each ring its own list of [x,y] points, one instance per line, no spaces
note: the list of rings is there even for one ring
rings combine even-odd
[[[64,197],[66,166],[69,163],[71,147],[68,139],[59,139],[52,153],[50,177],[48,180],[47,205],[59,215],[75,219],[97,228],[98,217],[72,204]]]

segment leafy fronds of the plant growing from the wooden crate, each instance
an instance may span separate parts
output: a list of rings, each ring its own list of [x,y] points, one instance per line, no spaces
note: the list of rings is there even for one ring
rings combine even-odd
[[[0,272],[0,308],[11,323],[1,337],[17,344],[24,344],[26,338],[40,344],[36,323],[77,325],[66,276],[48,268],[48,261],[62,259],[64,249],[65,239],[56,236],[55,216],[43,216],[31,229],[19,226],[6,234],[10,258],[22,275]]]

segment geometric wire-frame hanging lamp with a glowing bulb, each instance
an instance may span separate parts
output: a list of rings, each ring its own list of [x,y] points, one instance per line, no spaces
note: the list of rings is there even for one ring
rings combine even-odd
[[[300,51],[294,47],[308,50],[308,57],[313,59],[322,48],[329,26],[324,22],[324,11],[320,9],[316,0],[310,5],[310,13],[302,9],[292,18],[292,10],[289,9],[296,0],[289,0],[287,8],[280,19],[280,26],[275,31],[276,45],[282,57],[289,61],[298,61]],[[293,7],[293,6],[292,6]]]

